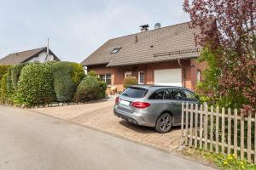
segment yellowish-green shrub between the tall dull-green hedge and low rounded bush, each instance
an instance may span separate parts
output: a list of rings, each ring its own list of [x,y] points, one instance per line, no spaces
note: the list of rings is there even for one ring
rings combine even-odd
[[[83,66],[80,65],[79,63],[70,63],[73,66],[73,71],[72,71],[72,80],[73,83],[78,86],[79,83],[84,79],[85,74],[84,74],[84,69]]]

